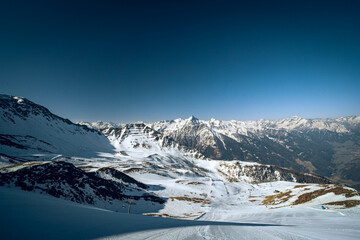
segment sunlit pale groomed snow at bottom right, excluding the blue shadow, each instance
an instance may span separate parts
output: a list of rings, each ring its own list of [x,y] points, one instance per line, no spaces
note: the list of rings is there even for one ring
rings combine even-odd
[[[228,209],[224,204],[214,206],[198,220],[278,224],[279,226],[207,225],[186,228],[155,230],[104,239],[358,239],[359,217],[318,211],[313,208],[282,209],[271,213],[245,213]],[[230,213],[231,212],[231,213]],[[230,213],[230,214],[229,214]],[[344,216],[342,216],[342,215]],[[234,216],[237,216],[234,218]]]

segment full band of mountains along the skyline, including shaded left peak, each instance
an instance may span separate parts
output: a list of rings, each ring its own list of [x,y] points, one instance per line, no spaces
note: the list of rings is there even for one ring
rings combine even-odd
[[[0,95],[0,154],[4,163],[35,160],[41,154],[52,154],[54,158],[58,154],[86,158],[99,153],[126,156],[127,149],[144,161],[181,159],[174,163],[176,169],[189,167],[187,157],[254,161],[360,186],[358,116],[258,121],[204,121],[192,116],[154,123],[74,124],[25,98]],[[249,171],[235,168],[243,173]]]

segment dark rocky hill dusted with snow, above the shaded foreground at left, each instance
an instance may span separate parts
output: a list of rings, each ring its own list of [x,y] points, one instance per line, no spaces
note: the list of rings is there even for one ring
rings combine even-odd
[[[116,170],[102,169],[99,173],[87,173],[70,163],[61,161],[28,162],[24,165],[2,168],[0,186],[15,186],[26,191],[46,193],[57,198],[90,205],[105,205],[115,200],[126,199],[164,203],[163,199],[132,185],[99,177],[104,172],[113,173],[112,176],[118,180],[146,188],[145,184]]]

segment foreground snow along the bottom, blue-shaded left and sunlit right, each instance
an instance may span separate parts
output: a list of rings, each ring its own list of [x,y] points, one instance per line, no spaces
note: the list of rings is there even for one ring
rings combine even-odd
[[[2,239],[358,239],[358,208],[263,210],[219,202],[199,220],[114,213],[0,188]],[[213,220],[220,221],[213,221]]]

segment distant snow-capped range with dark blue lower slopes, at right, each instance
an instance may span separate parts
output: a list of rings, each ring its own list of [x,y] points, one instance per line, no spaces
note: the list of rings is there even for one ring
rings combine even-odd
[[[360,117],[148,124],[183,146],[219,160],[254,161],[360,184]]]

